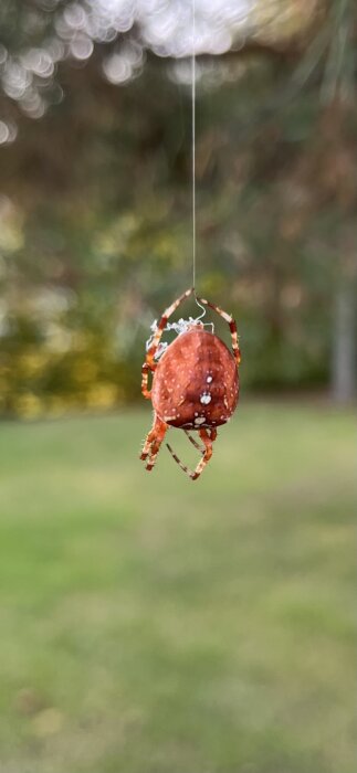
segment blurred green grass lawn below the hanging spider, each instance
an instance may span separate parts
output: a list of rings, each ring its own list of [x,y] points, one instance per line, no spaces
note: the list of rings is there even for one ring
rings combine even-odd
[[[242,404],[195,484],[149,423],[1,426],[1,773],[353,773],[351,412]]]

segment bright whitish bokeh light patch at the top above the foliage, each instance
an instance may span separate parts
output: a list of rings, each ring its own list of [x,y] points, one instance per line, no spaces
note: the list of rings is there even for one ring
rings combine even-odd
[[[27,18],[27,31],[41,29],[51,11],[51,34],[42,47],[29,46],[15,53],[0,43],[2,88],[28,116],[40,118],[59,100],[52,98],[59,62],[85,62],[96,43],[107,44],[104,76],[113,84],[124,84],[140,74],[146,49],[174,59],[190,56],[192,51],[229,51],[253,34],[255,4],[256,0],[197,0],[193,41],[191,0],[82,0],[65,8],[56,0],[41,0]]]

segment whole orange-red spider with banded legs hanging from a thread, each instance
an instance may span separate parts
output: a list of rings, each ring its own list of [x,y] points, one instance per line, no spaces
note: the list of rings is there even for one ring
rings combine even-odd
[[[196,469],[190,470],[186,467],[171,446],[166,445],[181,469],[191,480],[197,480],[212,456],[217,427],[225,424],[237,407],[238,366],[241,356],[233,317],[204,298],[197,298],[197,301],[210,306],[228,322],[232,337],[232,352],[218,336],[204,330],[200,319],[192,318],[188,322],[180,320],[183,322],[183,331],[169,346],[160,343],[165,329],[179,327],[167,327],[168,319],[192,293],[195,294],[193,287],[186,290],[164,311],[159,324],[154,325],[154,335],[147,345],[146,360],[141,369],[141,392],[144,398],[153,402],[154,424],[145,440],[140,459],[150,472],[167,430],[170,426],[178,427],[185,431],[201,454]],[[148,389],[149,371],[154,374],[151,390]],[[198,432],[202,445],[191,437],[189,430]]]

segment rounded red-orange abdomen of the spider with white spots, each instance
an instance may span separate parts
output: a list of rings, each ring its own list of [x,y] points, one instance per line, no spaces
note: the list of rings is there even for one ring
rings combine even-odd
[[[154,374],[157,415],[176,427],[214,427],[233,414],[239,395],[234,357],[220,338],[192,328],[170,343]]]

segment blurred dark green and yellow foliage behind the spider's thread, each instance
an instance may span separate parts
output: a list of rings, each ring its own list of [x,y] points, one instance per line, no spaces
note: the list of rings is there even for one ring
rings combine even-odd
[[[118,88],[104,49],[59,63],[65,99],[18,112],[0,148],[4,415],[138,398],[150,324],[191,284],[186,62],[148,54]],[[246,389],[329,380],[336,288],[356,280],[355,49],[336,2],[298,53],[197,63],[198,293],[237,316]]]

